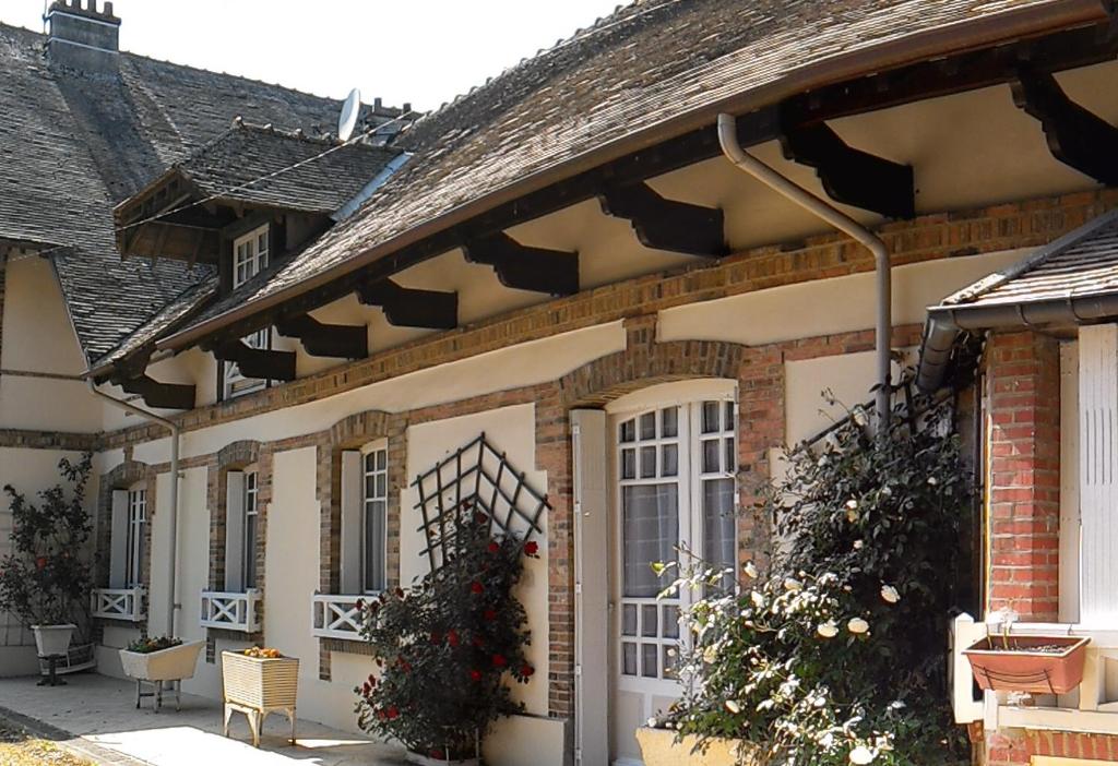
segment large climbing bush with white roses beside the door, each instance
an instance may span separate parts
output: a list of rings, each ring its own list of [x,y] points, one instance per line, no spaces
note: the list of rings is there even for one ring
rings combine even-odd
[[[776,519],[767,572],[684,556],[666,592],[704,595],[683,617],[685,693],[666,721],[682,735],[745,739],[781,766],[967,763],[953,727],[946,636],[959,603],[963,521],[974,502],[951,411],[883,438],[856,420],[788,453],[759,508]]]

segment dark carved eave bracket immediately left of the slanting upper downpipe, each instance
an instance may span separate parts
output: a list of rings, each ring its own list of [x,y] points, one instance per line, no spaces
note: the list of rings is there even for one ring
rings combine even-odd
[[[718,208],[670,200],[643,182],[606,186],[598,201],[607,216],[631,221],[647,248],[707,257],[728,252]]]

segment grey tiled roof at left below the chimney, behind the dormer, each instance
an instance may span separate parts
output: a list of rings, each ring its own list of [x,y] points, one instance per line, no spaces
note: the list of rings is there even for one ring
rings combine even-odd
[[[0,239],[45,246],[93,362],[212,279],[206,267],[122,261],[113,205],[235,116],[329,130],[341,103],[126,52],[120,77],[64,70],[48,65],[44,42],[0,25]]]

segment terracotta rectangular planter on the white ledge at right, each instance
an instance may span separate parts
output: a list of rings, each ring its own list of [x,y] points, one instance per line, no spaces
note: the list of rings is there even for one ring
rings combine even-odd
[[[1010,649],[999,636],[987,636],[963,653],[984,690],[1065,695],[1083,680],[1083,661],[1090,639],[1070,635],[1011,635]],[[1059,651],[1038,651],[1060,647]]]

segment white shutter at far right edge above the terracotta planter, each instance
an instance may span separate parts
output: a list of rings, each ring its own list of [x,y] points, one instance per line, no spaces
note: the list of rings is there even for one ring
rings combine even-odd
[[[1118,616],[1118,325],[1079,331],[1080,620]]]

